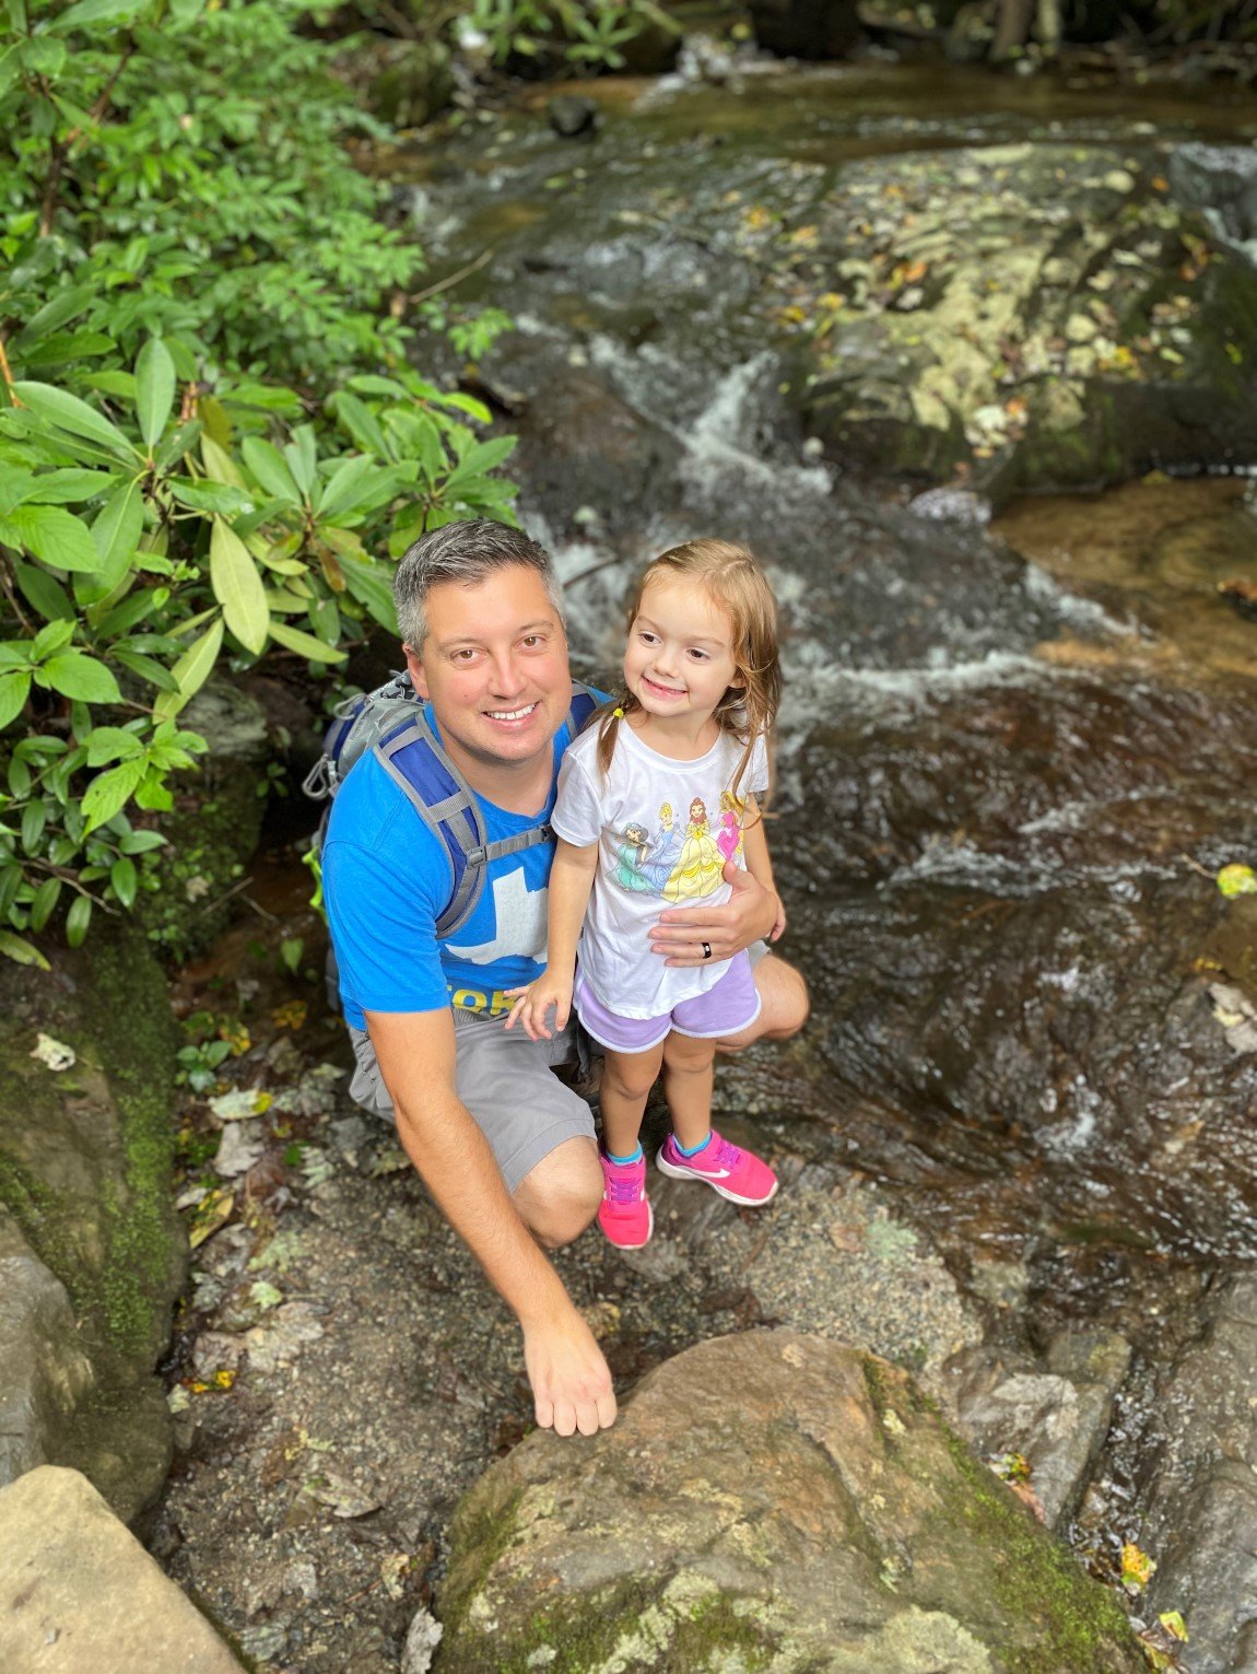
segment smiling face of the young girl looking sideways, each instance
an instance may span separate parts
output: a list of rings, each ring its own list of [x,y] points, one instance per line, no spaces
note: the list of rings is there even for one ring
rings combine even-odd
[[[654,576],[643,593],[624,651],[624,683],[666,720],[711,715],[735,683],[728,616],[683,576]]]

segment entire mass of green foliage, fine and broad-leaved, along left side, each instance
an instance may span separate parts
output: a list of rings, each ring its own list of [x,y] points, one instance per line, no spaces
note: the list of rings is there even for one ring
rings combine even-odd
[[[306,0],[7,0],[0,953],[156,887],[216,671],[326,676],[425,527],[510,519],[509,437],[402,358],[417,246]],[[400,311],[400,310],[398,310]],[[445,325],[450,335],[455,326]],[[502,325],[462,323],[479,350]],[[455,345],[457,347],[457,345]]]

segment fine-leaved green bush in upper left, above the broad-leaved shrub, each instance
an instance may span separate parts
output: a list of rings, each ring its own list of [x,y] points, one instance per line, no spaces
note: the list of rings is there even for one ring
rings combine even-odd
[[[345,154],[346,134],[383,131],[295,32],[310,12],[12,0],[0,313],[27,323],[17,377],[87,362],[90,387],[114,345],[171,333],[209,367],[296,382],[398,353],[380,303],[420,254],[380,226],[385,187]]]

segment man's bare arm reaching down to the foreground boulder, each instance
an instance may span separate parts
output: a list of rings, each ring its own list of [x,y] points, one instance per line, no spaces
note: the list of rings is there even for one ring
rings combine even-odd
[[[616,1416],[603,1351],[519,1217],[484,1135],[455,1091],[449,1009],[367,1013],[397,1133],[445,1219],[524,1331],[537,1423],[589,1436]]]

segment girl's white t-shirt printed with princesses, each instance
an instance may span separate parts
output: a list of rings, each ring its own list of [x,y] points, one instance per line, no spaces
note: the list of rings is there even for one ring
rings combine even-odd
[[[598,844],[598,872],[581,931],[581,976],[621,1018],[661,1018],[705,994],[728,959],[668,966],[648,931],[666,907],[718,907],[730,897],[726,860],[745,867],[745,798],[768,787],[768,752],[755,740],[733,795],[743,747],[721,733],[696,762],[675,762],[643,743],[628,721],[616,728],[606,777],[598,767],[599,723],[567,747],[551,825],[566,842]]]

